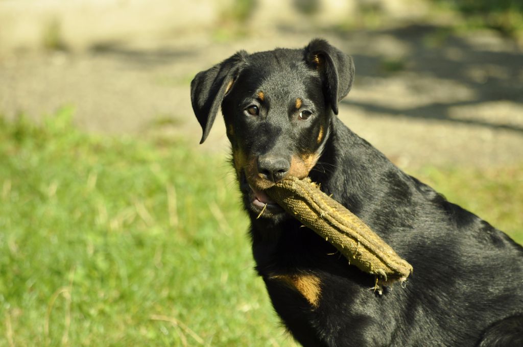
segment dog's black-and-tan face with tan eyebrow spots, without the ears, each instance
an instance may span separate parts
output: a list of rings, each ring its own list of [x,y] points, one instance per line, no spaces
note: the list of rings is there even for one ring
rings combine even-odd
[[[265,216],[281,208],[263,191],[289,175],[308,175],[325,144],[331,113],[317,71],[288,55],[253,54],[222,102],[245,202],[257,213],[267,204]]]

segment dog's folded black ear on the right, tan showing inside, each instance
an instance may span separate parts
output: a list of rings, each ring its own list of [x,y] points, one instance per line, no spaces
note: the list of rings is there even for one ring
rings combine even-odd
[[[334,114],[338,114],[338,102],[353,85],[353,59],[321,39],[309,42],[304,51],[305,61],[322,74],[325,97]]]

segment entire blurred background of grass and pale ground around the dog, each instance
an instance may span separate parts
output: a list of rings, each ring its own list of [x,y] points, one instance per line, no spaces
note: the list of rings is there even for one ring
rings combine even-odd
[[[292,345],[189,85],[317,37],[349,128],[523,241],[519,1],[0,0],[0,346]]]

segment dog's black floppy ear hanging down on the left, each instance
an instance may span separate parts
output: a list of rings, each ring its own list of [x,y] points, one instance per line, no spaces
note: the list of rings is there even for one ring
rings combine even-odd
[[[192,80],[192,109],[203,130],[200,143],[209,135],[223,97],[231,89],[234,77],[246,55],[245,51],[237,52],[209,70],[199,72]]]

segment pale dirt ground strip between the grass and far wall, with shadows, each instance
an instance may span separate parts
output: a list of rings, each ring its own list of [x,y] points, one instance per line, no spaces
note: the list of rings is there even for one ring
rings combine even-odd
[[[0,56],[0,113],[39,120],[64,105],[92,132],[140,136],[158,127],[198,146],[194,75],[240,49],[303,47],[323,37],[354,57],[339,117],[402,167],[523,161],[523,54],[490,31],[431,25],[316,30],[274,27],[234,39],[208,30],[101,41],[69,52]],[[220,120],[202,148],[226,153]]]

